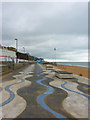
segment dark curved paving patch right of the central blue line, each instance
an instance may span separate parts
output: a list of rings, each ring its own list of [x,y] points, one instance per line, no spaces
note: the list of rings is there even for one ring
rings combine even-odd
[[[48,78],[47,81],[43,81],[42,83],[49,85],[49,82],[51,81],[52,79]],[[63,100],[68,96],[67,92],[57,87],[53,87],[53,88],[55,90],[54,93],[48,95],[45,98],[46,104],[50,108],[52,108],[54,111],[66,116],[67,118],[72,118],[69,114],[66,113],[66,111],[63,109],[63,106],[62,106]]]

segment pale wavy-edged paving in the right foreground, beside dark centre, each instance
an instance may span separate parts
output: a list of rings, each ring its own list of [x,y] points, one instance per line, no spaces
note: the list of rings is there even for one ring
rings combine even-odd
[[[62,104],[69,114],[75,118],[88,118],[88,98],[83,96],[83,93],[77,89],[77,83],[68,82],[66,85],[65,83],[67,82],[58,79],[50,82],[49,84],[54,87],[61,88],[68,93],[68,97]]]

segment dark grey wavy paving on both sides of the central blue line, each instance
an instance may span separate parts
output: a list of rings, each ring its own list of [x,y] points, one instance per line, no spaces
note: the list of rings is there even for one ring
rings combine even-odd
[[[47,88],[36,83],[40,77],[37,77],[37,72],[42,73],[42,69],[35,65],[33,77],[28,78],[27,80],[31,81],[32,84],[28,87],[24,87],[18,90],[18,94],[22,96],[27,101],[27,107],[25,111],[18,118],[55,118],[51,113],[44,110],[40,105],[38,105],[36,99],[37,96],[43,94],[47,91]],[[45,77],[45,74],[43,75]],[[49,85],[49,82],[53,79],[47,78],[47,80],[42,83]],[[54,87],[53,87],[54,88]],[[62,107],[62,101],[67,97],[67,93],[62,89],[54,88],[55,92],[52,95],[48,95],[45,99],[46,104],[62,115],[71,118],[70,115],[64,111]]]

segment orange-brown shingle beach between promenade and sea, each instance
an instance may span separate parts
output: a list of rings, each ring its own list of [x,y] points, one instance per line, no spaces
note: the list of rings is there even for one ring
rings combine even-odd
[[[58,69],[90,78],[90,68],[70,65],[55,65]]]

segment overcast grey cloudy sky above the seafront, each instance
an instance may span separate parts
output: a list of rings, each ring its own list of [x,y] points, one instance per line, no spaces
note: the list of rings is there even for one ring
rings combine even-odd
[[[15,47],[15,38],[20,52],[25,47],[44,59],[87,61],[88,3],[2,3],[2,45]]]

